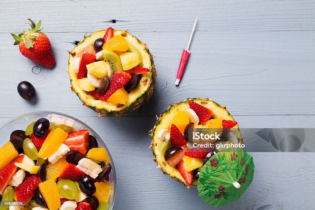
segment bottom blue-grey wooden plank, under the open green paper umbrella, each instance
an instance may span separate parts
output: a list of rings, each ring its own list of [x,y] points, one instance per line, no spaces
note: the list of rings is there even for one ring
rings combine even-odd
[[[8,119],[0,118],[0,123]],[[148,131],[154,117],[80,117],[103,138],[117,172],[115,209],[215,209],[198,197],[196,187],[186,189],[155,168],[148,149]],[[253,116],[239,116],[242,127],[253,124]],[[291,123],[289,123],[291,122]],[[310,123],[310,124],[309,124]],[[314,116],[255,116],[255,127],[314,127]],[[255,177],[238,201],[221,209],[256,209],[266,204],[275,209],[312,209],[314,206],[314,153],[250,153]],[[306,182],[307,180],[307,182]],[[307,193],[305,193],[307,190]],[[301,196],[303,195],[303,196]]]

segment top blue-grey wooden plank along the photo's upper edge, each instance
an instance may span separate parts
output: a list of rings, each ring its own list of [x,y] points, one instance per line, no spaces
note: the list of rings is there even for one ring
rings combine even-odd
[[[35,6],[36,5],[36,6]],[[25,29],[21,20],[41,19],[46,32],[93,32],[108,25],[137,32],[314,31],[313,1],[36,1],[2,2],[2,32]],[[10,16],[7,16],[10,14]],[[45,15],[43,15],[45,14]],[[112,20],[116,20],[112,24]],[[22,22],[24,23],[24,22]],[[75,26],[75,27],[74,27]]]

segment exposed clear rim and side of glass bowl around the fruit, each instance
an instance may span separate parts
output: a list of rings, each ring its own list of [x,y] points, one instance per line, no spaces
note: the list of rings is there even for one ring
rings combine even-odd
[[[10,134],[13,131],[15,130],[25,131],[27,125],[29,125],[31,122],[34,122],[38,120],[39,118],[49,119],[55,115],[59,115],[59,117],[62,117],[63,119],[66,119],[66,120],[72,120],[74,122],[73,127],[77,128],[78,130],[81,130],[81,129],[88,130],[89,134],[96,138],[97,143],[99,144],[99,147],[105,148],[109,157],[109,162],[112,165],[112,171],[109,175],[109,181],[108,181],[111,183],[111,193],[108,198],[108,208],[107,208],[111,210],[114,206],[115,194],[116,194],[116,173],[115,173],[114,163],[101,137],[97,135],[97,133],[93,131],[92,128],[90,128],[88,125],[86,125],[82,121],[66,114],[62,114],[58,112],[50,112],[50,111],[37,111],[37,112],[30,112],[30,113],[22,114],[0,125],[0,135],[2,137],[0,140],[0,147],[2,147],[5,143],[7,143],[10,140]]]

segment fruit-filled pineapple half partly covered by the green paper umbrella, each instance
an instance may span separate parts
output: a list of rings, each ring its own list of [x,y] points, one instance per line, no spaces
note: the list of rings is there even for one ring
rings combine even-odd
[[[188,133],[192,132],[189,128],[209,133],[215,131],[221,140],[208,140],[208,143],[213,143],[213,149],[193,148],[193,143],[188,141]],[[234,136],[229,133],[232,131]],[[163,174],[188,187],[197,184],[201,168],[212,155],[227,145],[241,145],[243,142],[234,118],[225,107],[208,98],[188,98],[171,104],[157,118],[151,136],[153,161],[157,162],[157,167]]]

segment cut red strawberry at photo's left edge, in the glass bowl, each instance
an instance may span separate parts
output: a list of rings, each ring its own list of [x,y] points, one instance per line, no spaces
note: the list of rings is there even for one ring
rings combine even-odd
[[[7,166],[5,166],[0,171],[0,194],[3,195],[5,189],[7,188],[9,182],[14,176],[17,166],[14,165],[15,162],[20,163],[23,160],[24,155],[17,156],[14,160],[12,160]]]

